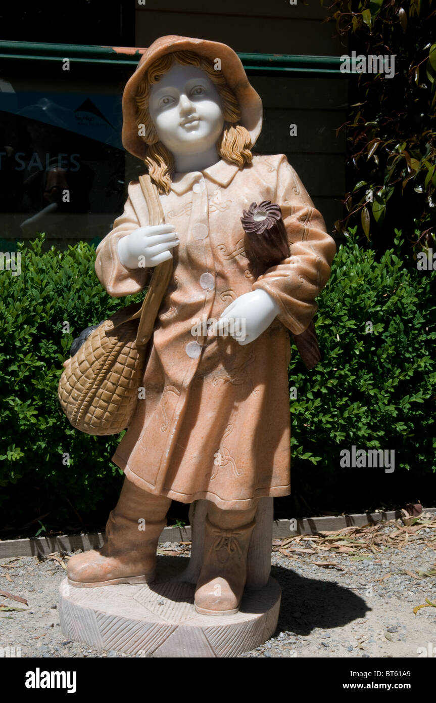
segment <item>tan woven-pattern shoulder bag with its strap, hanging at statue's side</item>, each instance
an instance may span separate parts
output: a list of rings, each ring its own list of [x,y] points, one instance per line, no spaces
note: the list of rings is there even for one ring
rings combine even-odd
[[[140,183],[149,209],[149,224],[163,224],[157,188],[150,176],[140,176]],[[172,259],[156,266],[142,304],[118,310],[65,361],[58,397],[77,430],[117,434],[131,423],[143,380],[147,344],[172,269]]]

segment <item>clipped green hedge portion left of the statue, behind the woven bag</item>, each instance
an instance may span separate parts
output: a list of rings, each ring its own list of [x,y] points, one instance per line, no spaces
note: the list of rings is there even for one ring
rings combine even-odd
[[[18,245],[19,276],[0,271],[1,505],[8,522],[19,524],[47,512],[48,522],[77,522],[120,482],[110,461],[119,437],[74,430],[57,387],[74,337],[135,298],[107,295],[92,246],[59,252],[43,245],[44,236]]]

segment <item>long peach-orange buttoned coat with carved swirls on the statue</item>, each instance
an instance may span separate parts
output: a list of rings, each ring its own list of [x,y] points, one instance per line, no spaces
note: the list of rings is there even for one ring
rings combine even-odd
[[[251,202],[263,200],[282,208],[291,255],[256,280],[240,218]],[[172,250],[173,276],[154,328],[145,398],[113,460],[146,491],[182,503],[206,498],[219,508],[242,510],[253,498],[285,496],[288,330],[303,332],[315,314],[334,241],[282,154],[255,155],[243,169],[220,160],[202,172],[175,174],[161,203],[180,244]],[[117,256],[119,238],[145,223],[143,193],[132,182],[124,214],[97,249],[95,271],[110,295],[147,285],[150,269],[126,269]],[[241,346],[230,336],[205,334],[206,321],[258,288],[281,310],[260,337]]]

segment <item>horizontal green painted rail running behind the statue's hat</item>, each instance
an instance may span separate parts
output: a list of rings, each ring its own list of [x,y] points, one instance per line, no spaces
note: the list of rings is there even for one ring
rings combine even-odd
[[[112,64],[136,67],[143,49],[79,44],[35,44],[30,41],[0,41],[0,58],[9,60],[61,61],[69,58],[77,63]],[[238,53],[245,70],[257,75],[278,73],[310,73],[317,75],[346,74],[339,70],[339,56],[298,56],[296,54]]]

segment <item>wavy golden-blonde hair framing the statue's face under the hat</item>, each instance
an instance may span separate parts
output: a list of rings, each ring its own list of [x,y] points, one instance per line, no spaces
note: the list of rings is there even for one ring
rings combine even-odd
[[[242,127],[242,124],[239,124],[241,119],[239,103],[228,86],[223,72],[216,71],[211,60],[205,56],[200,56],[193,51],[173,51],[173,53],[161,56],[152,63],[135,96],[138,128],[140,125],[143,126],[142,138],[148,145],[144,162],[161,193],[169,193],[170,191],[174,173],[174,158],[171,151],[159,141],[148,110],[148,101],[151,86],[159,83],[175,61],[183,66],[193,65],[204,70],[220,94],[225,122],[221,136],[216,143],[218,155],[236,164],[239,169],[242,169],[245,164],[251,163],[252,159],[251,137],[249,131]]]

